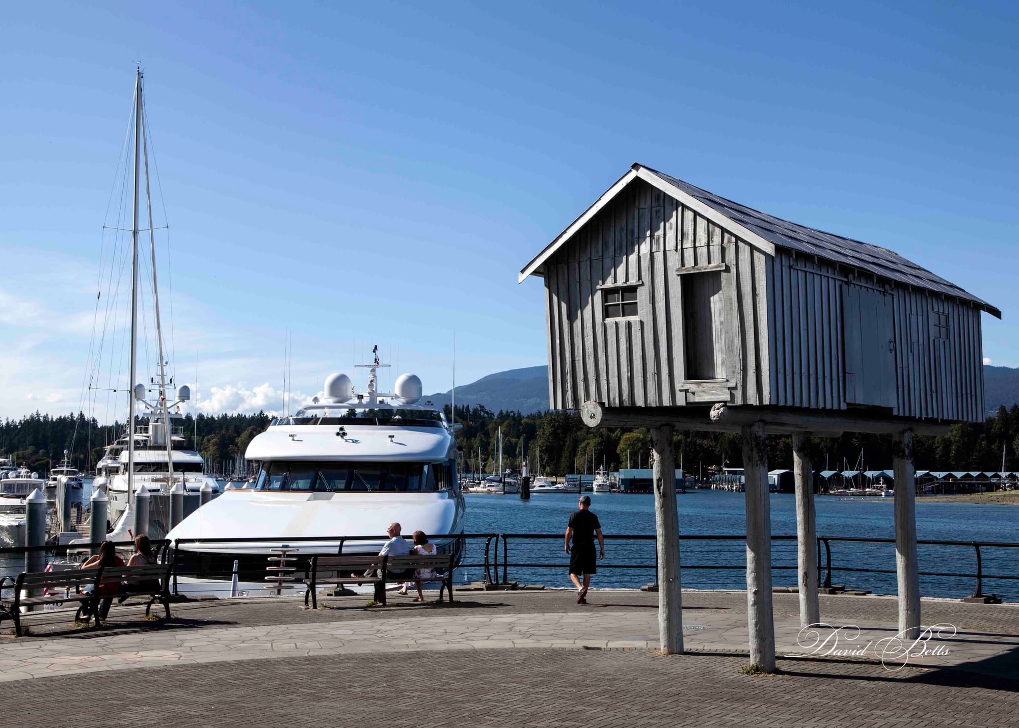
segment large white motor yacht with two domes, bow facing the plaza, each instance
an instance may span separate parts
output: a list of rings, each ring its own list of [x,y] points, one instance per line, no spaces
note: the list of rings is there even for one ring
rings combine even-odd
[[[273,548],[293,547],[299,559],[336,554],[339,537],[377,536],[393,521],[404,535],[423,530],[440,553],[455,549],[466,508],[457,426],[438,407],[418,404],[417,376],[401,375],[395,393],[385,395],[376,391],[376,369],[386,365],[376,356],[364,366],[366,393],[356,394],[345,374],[332,374],[323,402],[316,398],[297,415],[272,420],[252,439],[246,458],[259,463],[256,481],[235,483],[248,486],[229,488],[168,534],[199,539],[180,544],[183,569],[194,560],[203,571],[229,574],[236,560],[240,578],[261,581]],[[299,537],[316,540],[290,541]],[[381,545],[345,541],[342,552],[374,554]]]

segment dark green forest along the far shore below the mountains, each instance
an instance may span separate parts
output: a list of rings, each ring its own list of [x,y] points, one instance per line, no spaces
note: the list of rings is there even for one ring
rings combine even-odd
[[[445,407],[449,418],[449,407]],[[183,418],[189,450],[197,449],[210,471],[230,472],[237,455],[243,455],[252,438],[263,431],[271,417],[220,414]],[[463,449],[464,468],[476,466],[478,452],[485,471],[496,465],[498,431],[502,429],[503,465],[519,467],[523,439],[525,457],[532,466],[540,454],[542,471],[547,475],[590,472],[604,465],[647,467],[651,439],[646,430],[590,429],[580,415],[545,412],[523,415],[520,412],[490,412],[481,406],[457,407],[457,422],[463,425],[457,439]],[[92,470],[102,457],[103,448],[122,430],[120,423],[101,425],[84,414],[48,415],[35,413],[18,420],[6,419],[0,425],[0,456],[12,458],[17,465],[46,472],[57,465],[68,450],[71,462]],[[196,448],[197,443],[197,448]],[[742,443],[738,433],[677,432],[674,437],[677,463],[683,463],[692,475],[707,473],[714,467],[742,467]],[[767,438],[770,468],[789,468],[793,463],[792,441],[788,436]],[[892,464],[892,438],[881,435],[850,434],[814,441],[814,464],[839,470],[855,469],[861,452],[867,469],[889,468]],[[1010,410],[1000,407],[980,424],[954,425],[940,437],[916,437],[916,467],[926,470],[984,470],[1001,467],[1002,451],[1009,467],[1019,469],[1019,405]]]

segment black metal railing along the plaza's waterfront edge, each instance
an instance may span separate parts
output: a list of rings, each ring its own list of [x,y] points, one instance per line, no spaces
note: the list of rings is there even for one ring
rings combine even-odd
[[[174,542],[167,540],[153,541],[153,549],[160,558],[173,563],[173,583],[176,592],[178,577],[192,576],[212,580],[230,580],[238,576],[234,565],[236,554],[229,551],[231,543],[259,544],[271,547],[298,547],[296,553],[296,574],[300,576],[309,565],[311,556],[315,554],[341,554],[344,549],[351,549],[357,543],[371,543],[374,549],[388,539],[385,535],[370,536],[300,536],[292,538],[187,538]],[[685,562],[683,571],[711,572],[721,574],[741,571],[746,568],[742,550],[726,550],[727,542],[745,541],[744,534],[696,534],[681,535],[680,541],[686,547],[682,550]],[[790,550],[790,543],[795,544],[795,535],[773,535],[771,537],[772,570],[789,572],[797,569],[795,548]],[[561,547],[551,550],[549,544],[564,542],[561,533],[457,533],[432,536],[432,540],[441,544],[442,551],[454,550],[458,554],[457,568],[462,573],[470,574],[480,570],[481,581],[492,585],[507,584],[521,578],[531,578],[545,570],[565,570],[568,557]],[[610,544],[608,558],[598,562],[599,572],[618,572],[628,574],[646,571],[651,581],[657,577],[657,538],[653,534],[612,534],[606,535]],[[703,544],[696,547],[695,544]],[[896,574],[894,564],[894,538],[864,536],[817,536],[818,582],[822,587],[830,588],[835,574],[873,575],[883,579],[879,583],[894,591]],[[56,559],[84,560],[98,543],[74,543],[43,547],[8,547],[0,548],[0,575],[13,575],[28,568],[29,554],[43,552],[44,562]],[[120,541],[114,545],[118,550],[129,550],[131,541]],[[837,548],[837,547],[850,548]],[[1019,542],[1004,541],[953,541],[918,539],[921,550],[921,566],[924,561],[933,560],[936,564],[950,564],[948,568],[924,569],[919,575],[925,579],[943,580],[948,583],[956,595],[964,583],[972,582],[970,595],[984,596],[984,586],[988,581],[998,582],[1002,588],[1009,591],[1012,599],[1019,599],[1019,590],[1011,585],[1019,580]],[[223,552],[223,558],[214,559],[206,547],[216,547]],[[225,547],[225,548],[224,548]],[[238,550],[248,552],[252,550]],[[247,573],[252,578],[262,581],[268,565],[265,549],[251,555],[252,561],[247,565]],[[302,554],[302,551],[304,554]],[[357,551],[363,551],[357,550]],[[448,553],[448,552],[447,552]],[[970,555],[966,556],[966,554]],[[205,555],[197,558],[196,554]],[[989,557],[988,557],[989,554]],[[213,555],[215,556],[215,555]],[[204,560],[203,560],[204,559]],[[881,568],[893,560],[892,568]],[[985,570],[989,567],[989,571]],[[244,570],[242,570],[244,571]],[[888,577],[888,578],[886,578]],[[725,577],[730,578],[730,577]],[[725,580],[725,579],[722,579]],[[949,580],[949,581],[945,581]],[[715,579],[717,582],[718,579]],[[685,583],[689,584],[689,581]],[[742,588],[730,578],[730,586],[714,586],[714,588]],[[929,582],[933,584],[934,582]],[[634,580],[626,577],[626,583],[618,585],[634,586]],[[868,586],[867,583],[859,584]],[[859,586],[858,585],[858,586]],[[697,584],[702,587],[703,584]],[[924,588],[926,595],[946,595],[947,587]],[[1013,593],[1014,592],[1014,593]]]

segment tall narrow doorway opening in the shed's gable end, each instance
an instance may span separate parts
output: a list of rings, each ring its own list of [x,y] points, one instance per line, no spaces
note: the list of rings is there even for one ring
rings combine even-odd
[[[721,273],[682,276],[686,378],[726,378],[726,316]]]

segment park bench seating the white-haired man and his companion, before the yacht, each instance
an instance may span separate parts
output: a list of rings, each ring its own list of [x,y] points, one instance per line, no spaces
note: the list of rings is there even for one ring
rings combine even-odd
[[[318,608],[317,592],[319,586],[343,586],[345,584],[375,584],[379,601],[385,606],[385,584],[409,579],[404,572],[408,570],[432,569],[442,571],[427,581],[440,581],[439,602],[442,601],[442,589],[449,593],[452,602],[452,554],[436,554],[434,556],[316,556],[308,567],[305,583],[305,606],[311,597],[312,608]],[[372,575],[364,576],[366,572]],[[392,572],[397,572],[393,574]],[[353,576],[352,574],[357,574]]]

